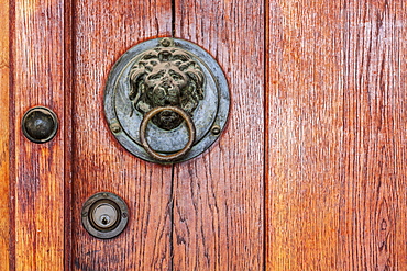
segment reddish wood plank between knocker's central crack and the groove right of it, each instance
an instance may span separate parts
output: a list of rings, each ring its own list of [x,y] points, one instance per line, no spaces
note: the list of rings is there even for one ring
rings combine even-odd
[[[231,111],[204,155],[175,166],[174,270],[262,270],[264,1],[175,1],[175,37],[224,70]]]

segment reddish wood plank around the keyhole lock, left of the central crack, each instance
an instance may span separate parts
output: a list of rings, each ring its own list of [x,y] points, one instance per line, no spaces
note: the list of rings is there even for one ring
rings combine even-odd
[[[172,167],[128,153],[103,111],[116,60],[144,39],[170,35],[170,1],[75,1],[74,18],[74,270],[170,270]],[[110,240],[91,237],[80,222],[84,202],[100,191],[130,210],[127,229]]]

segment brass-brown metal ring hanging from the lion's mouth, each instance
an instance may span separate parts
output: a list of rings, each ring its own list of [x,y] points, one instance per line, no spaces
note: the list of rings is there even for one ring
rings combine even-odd
[[[185,122],[187,123],[188,133],[189,133],[189,140],[188,140],[187,145],[185,145],[185,147],[182,150],[179,150],[175,154],[172,154],[172,155],[161,155],[161,154],[158,154],[157,151],[155,151],[154,149],[152,149],[150,147],[148,142],[145,138],[145,132],[146,132],[147,124],[148,124],[150,120],[153,118],[153,116],[155,116],[156,114],[158,114],[163,111],[166,111],[166,110],[174,111],[175,113],[178,113],[185,120]],[[195,138],[196,138],[196,132],[195,132],[195,124],[194,124],[193,120],[190,118],[190,116],[187,112],[185,112],[184,110],[182,110],[179,108],[176,108],[176,106],[155,108],[155,109],[151,110],[148,113],[146,113],[144,115],[143,121],[141,122],[141,125],[140,125],[140,140],[141,140],[141,144],[143,145],[145,151],[148,153],[148,155],[151,155],[154,159],[157,159],[160,161],[174,161],[174,160],[177,160],[177,159],[182,158],[183,156],[185,156],[193,148],[193,144],[195,142]]]

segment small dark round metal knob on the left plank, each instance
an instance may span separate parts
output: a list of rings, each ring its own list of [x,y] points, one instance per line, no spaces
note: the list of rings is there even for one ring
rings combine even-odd
[[[22,129],[26,138],[33,143],[50,142],[58,129],[55,113],[43,106],[30,109],[23,116]]]

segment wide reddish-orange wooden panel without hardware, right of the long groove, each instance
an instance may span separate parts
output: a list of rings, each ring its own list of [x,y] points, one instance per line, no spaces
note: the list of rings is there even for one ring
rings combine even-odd
[[[267,270],[405,270],[406,3],[267,10]]]

